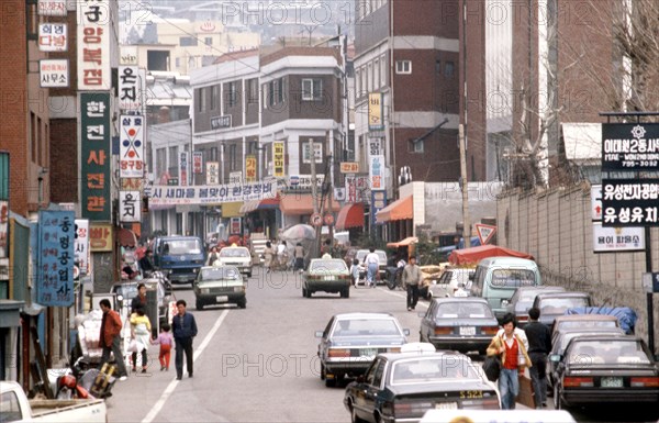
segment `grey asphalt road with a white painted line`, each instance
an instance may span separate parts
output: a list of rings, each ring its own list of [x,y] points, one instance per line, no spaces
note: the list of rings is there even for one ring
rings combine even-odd
[[[175,287],[175,296],[188,302],[199,326],[194,377],[176,380],[174,350],[169,371],[160,371],[158,347],[152,346],[148,372],[114,386],[109,422],[349,422],[344,389],[325,388],[320,379],[314,332],[335,313],[390,312],[410,329],[409,341],[418,341],[416,312],[427,308],[421,301],[416,312],[409,312],[404,292],[386,287],[353,288],[349,299],[323,293],[304,299],[300,276],[290,271],[255,271],[244,310],[197,311],[189,287]],[[621,416],[614,419],[599,410],[576,416],[580,422],[639,421],[635,410],[617,410]]]

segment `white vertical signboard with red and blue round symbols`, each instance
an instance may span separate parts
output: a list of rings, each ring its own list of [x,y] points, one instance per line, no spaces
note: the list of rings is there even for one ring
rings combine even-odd
[[[142,178],[144,176],[144,116],[123,114],[119,132],[119,176]]]

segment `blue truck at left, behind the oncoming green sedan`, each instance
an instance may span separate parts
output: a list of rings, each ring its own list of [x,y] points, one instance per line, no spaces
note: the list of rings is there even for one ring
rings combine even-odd
[[[154,241],[154,266],[171,283],[192,283],[205,263],[199,236],[159,236]]]

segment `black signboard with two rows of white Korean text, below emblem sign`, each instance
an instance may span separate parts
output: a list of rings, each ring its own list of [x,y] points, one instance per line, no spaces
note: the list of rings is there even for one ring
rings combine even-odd
[[[603,226],[659,226],[659,180],[602,179]]]

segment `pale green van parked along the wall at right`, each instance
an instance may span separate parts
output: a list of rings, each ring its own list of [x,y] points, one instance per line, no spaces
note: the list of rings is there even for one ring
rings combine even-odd
[[[526,258],[488,257],[479,261],[473,275],[471,294],[488,300],[501,320],[515,290],[543,285],[538,265]]]

